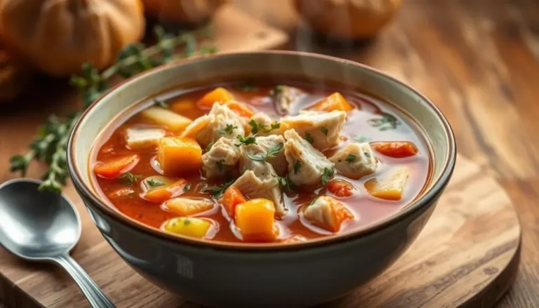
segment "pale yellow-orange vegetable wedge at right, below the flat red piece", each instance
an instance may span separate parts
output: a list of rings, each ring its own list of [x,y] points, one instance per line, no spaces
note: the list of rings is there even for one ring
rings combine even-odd
[[[387,180],[378,180],[377,178],[368,180],[365,182],[365,188],[371,196],[376,198],[398,201],[402,198],[408,175],[410,175],[410,169],[401,167]]]

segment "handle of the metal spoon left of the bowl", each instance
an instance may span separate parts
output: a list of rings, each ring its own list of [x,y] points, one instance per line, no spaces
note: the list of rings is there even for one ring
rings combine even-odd
[[[102,293],[95,282],[84,272],[84,269],[69,255],[60,255],[53,258],[61,267],[63,267],[74,279],[82,293],[86,295],[88,302],[94,308],[115,308],[114,304],[108,299],[107,295]]]

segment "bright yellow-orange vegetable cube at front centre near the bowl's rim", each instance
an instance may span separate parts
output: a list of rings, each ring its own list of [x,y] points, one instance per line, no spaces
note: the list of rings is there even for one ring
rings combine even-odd
[[[236,206],[234,222],[246,240],[268,241],[277,236],[275,206],[267,199],[252,199]]]

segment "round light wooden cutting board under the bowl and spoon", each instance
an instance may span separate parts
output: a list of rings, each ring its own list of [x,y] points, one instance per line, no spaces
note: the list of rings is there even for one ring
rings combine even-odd
[[[118,307],[199,307],[133,272],[102,239],[72,187],[67,195],[83,221],[72,255]],[[411,248],[381,276],[326,307],[492,307],[517,274],[520,232],[500,185],[459,156]],[[2,248],[0,260],[0,301],[8,307],[88,307],[62,269],[22,261]]]

